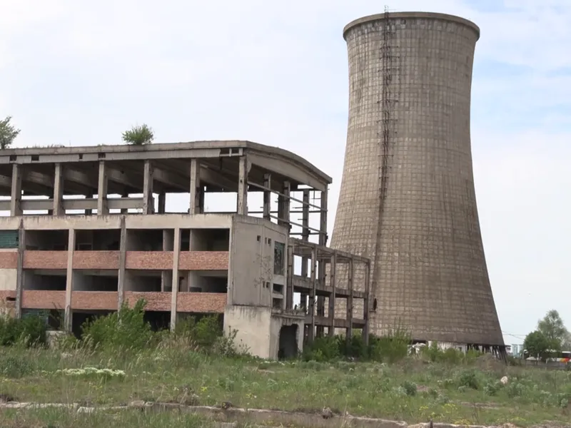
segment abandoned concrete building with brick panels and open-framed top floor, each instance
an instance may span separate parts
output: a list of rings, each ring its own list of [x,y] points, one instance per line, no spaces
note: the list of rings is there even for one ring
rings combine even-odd
[[[54,328],[77,334],[144,298],[154,327],[220,314],[263,358],[339,329],[366,338],[370,260],[326,246],[330,183],[303,158],[248,141],[0,151],[3,310],[54,312]],[[236,209],[207,212],[211,193],[233,193]],[[172,195],[186,200],[181,212],[166,210]]]

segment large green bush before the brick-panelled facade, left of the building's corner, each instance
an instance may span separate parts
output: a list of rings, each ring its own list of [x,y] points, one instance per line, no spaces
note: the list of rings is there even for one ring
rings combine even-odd
[[[153,338],[151,325],[144,320],[145,300],[138,300],[130,308],[123,303],[121,310],[81,326],[81,339],[91,347],[140,350]]]

